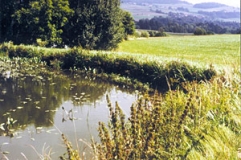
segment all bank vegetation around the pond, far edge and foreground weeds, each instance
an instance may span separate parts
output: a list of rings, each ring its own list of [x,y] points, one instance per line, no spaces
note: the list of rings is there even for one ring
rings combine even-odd
[[[37,57],[55,69],[88,72],[106,79],[115,74],[116,82],[125,77],[122,83],[147,84],[147,89],[155,90],[153,95],[144,93],[133,102],[130,117],[125,117],[119,104],[111,104],[106,97],[110,120],[108,124],[99,123],[100,141],[91,143],[93,159],[240,158],[238,64],[231,65],[231,70],[218,71],[215,64],[196,67],[180,60],[164,62],[141,54],[12,43],[1,44],[0,53],[10,58]],[[62,137],[67,152],[60,159],[81,159],[83,153],[78,147],[75,149],[66,135]]]

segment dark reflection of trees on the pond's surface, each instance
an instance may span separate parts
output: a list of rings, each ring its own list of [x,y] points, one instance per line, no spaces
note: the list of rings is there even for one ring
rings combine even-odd
[[[110,87],[100,81],[57,74],[0,77],[0,84],[0,122],[5,123],[11,117],[17,120],[15,129],[29,124],[51,126],[49,120],[53,121],[55,110],[64,101],[71,99],[78,106],[95,102]]]

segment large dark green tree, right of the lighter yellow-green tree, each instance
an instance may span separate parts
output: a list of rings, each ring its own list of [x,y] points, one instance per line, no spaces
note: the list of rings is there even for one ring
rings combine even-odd
[[[119,0],[70,0],[75,14],[64,29],[64,42],[110,50],[124,38]]]

